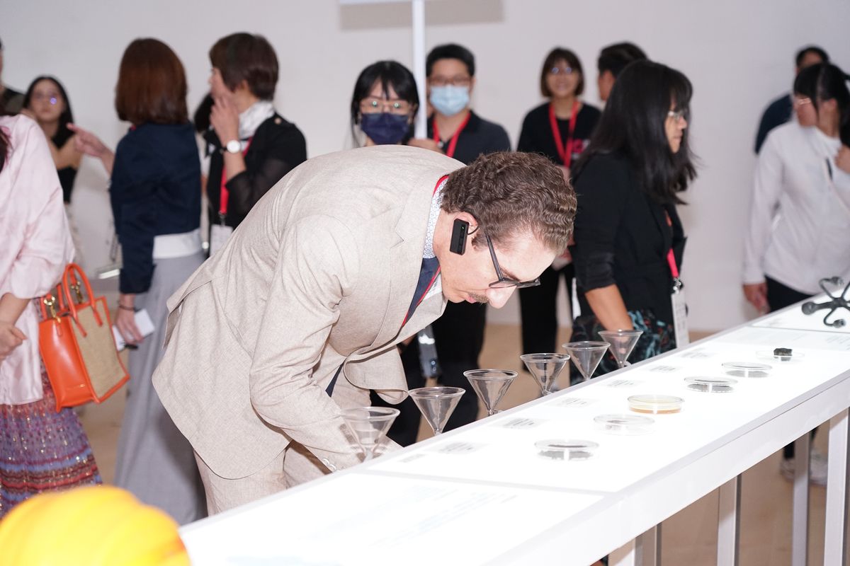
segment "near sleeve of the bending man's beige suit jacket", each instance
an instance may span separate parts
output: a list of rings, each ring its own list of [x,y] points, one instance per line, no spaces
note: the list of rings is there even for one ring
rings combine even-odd
[[[287,229],[249,378],[258,415],[336,468],[360,462],[359,449],[313,367],[359,268],[354,237],[339,221],[311,216]]]

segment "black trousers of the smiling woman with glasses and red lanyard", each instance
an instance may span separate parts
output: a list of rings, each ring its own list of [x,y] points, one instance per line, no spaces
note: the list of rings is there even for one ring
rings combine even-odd
[[[560,351],[558,339],[558,283],[564,277],[567,304],[573,300],[575,267],[568,264],[555,270],[551,266],[541,273],[540,285],[519,289],[519,310],[523,325],[523,353],[539,354]],[[576,313],[573,313],[575,317]]]

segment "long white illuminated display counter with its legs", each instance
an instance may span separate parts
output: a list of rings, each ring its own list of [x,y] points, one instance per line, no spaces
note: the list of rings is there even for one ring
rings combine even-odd
[[[850,313],[847,313],[850,317]],[[657,559],[655,525],[721,488],[718,563],[737,563],[738,477],[830,420],[825,563],[844,564],[850,331],[799,306],[530,401],[262,501],[185,526],[195,564],[612,564]],[[815,324],[814,322],[817,322]],[[765,359],[792,348],[791,361]],[[771,366],[729,376],[722,363]],[[689,377],[731,377],[727,393]],[[528,377],[524,377],[528,378]],[[630,395],[684,399],[644,415],[648,434],[594,422]],[[541,455],[539,440],[590,440],[584,460]],[[800,460],[800,458],[798,458]],[[795,564],[804,557],[808,469],[796,479]],[[632,541],[632,542],[630,542]]]

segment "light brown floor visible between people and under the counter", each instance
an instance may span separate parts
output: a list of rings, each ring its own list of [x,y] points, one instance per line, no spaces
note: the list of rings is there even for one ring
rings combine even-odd
[[[564,330],[562,340],[568,341]],[[519,328],[512,325],[487,327],[482,367],[523,370],[519,360]],[[566,386],[566,384],[562,384]],[[508,390],[501,408],[535,399],[539,389],[528,373],[521,373]],[[87,406],[82,423],[88,432],[101,474],[110,482],[115,474],[115,452],[121,427],[123,395],[114,395],[99,406]],[[483,414],[481,415],[483,417]],[[427,425],[421,436],[428,436]],[[826,451],[826,434],[818,434],[814,445]],[[779,475],[779,453],[744,474],[741,500],[741,566],[785,566],[791,564],[791,483]],[[809,564],[823,563],[825,489],[813,486],[810,496]],[[717,491],[683,509],[662,525],[661,561],[665,566],[708,566],[716,563]]]

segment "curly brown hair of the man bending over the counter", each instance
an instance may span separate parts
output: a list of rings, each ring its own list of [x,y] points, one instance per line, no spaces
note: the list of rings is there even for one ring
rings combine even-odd
[[[530,232],[560,252],[573,233],[575,205],[575,190],[558,165],[542,155],[505,151],[481,155],[453,171],[441,208],[475,217],[476,247],[483,234],[507,247],[518,233]]]

